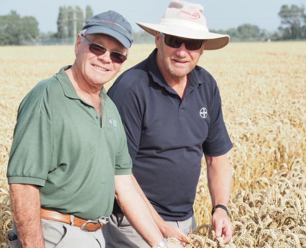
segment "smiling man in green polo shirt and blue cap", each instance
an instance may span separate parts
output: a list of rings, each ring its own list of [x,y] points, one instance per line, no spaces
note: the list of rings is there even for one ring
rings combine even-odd
[[[168,243],[133,185],[124,128],[103,88],[132,41],[118,13],[91,17],[77,36],[73,65],[22,100],[7,170],[11,248],[104,248],[100,229],[114,196],[150,246]]]

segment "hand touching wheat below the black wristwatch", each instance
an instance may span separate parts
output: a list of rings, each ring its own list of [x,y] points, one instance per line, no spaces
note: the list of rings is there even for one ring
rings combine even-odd
[[[224,209],[216,208],[211,223],[217,238],[222,237],[226,244],[233,236],[233,225]]]

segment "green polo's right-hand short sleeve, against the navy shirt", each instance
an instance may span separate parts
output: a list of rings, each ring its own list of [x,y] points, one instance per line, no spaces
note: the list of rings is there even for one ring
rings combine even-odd
[[[120,122],[120,144],[115,160],[115,175],[132,174],[132,160],[127,148],[126,137],[122,123]]]

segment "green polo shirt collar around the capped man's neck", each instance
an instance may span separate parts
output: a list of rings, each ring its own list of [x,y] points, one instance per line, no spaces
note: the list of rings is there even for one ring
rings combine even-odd
[[[64,94],[68,97],[68,98],[72,98],[72,99],[79,99],[81,101],[83,101],[78,94],[76,93],[76,90],[74,89],[70,78],[68,77],[67,73],[65,72],[66,70],[68,70],[69,68],[71,68],[71,65],[68,66],[64,66],[62,67],[59,72],[55,75],[55,77],[58,79],[58,81],[60,82],[63,92]],[[101,90],[100,93],[100,97],[101,94],[106,94],[106,91],[104,89],[104,87]]]

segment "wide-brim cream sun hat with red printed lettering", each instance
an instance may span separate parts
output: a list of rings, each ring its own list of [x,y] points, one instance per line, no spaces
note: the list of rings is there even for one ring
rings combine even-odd
[[[155,35],[155,31],[182,38],[206,40],[204,50],[225,47],[230,40],[226,34],[209,32],[206,19],[202,15],[204,8],[200,4],[186,1],[171,1],[160,23],[136,22],[145,31]]]

